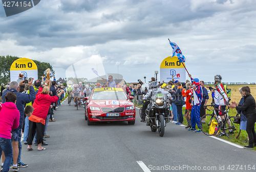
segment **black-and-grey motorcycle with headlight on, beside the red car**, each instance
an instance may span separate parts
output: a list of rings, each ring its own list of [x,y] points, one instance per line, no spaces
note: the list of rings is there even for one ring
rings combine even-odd
[[[166,126],[166,123],[170,122],[170,107],[166,103],[165,97],[161,92],[153,92],[151,98],[148,99],[151,102],[146,108],[145,120],[150,124],[152,132],[158,130],[159,136],[163,137],[164,127]]]

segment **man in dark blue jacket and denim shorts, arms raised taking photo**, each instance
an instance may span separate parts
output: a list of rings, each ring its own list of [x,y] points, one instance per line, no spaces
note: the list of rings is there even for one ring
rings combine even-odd
[[[22,83],[22,82],[20,82]],[[22,127],[24,122],[24,104],[27,104],[35,99],[35,90],[32,86],[33,80],[28,82],[29,84],[29,94],[20,93],[19,92],[19,83],[17,81],[12,81],[10,83],[10,87],[7,91],[3,92],[3,95],[7,94],[7,92],[14,92],[17,96],[16,106],[19,110],[19,126],[17,129],[12,130],[12,148],[13,148],[13,171],[18,171],[19,167],[27,167],[27,164],[20,162],[21,154],[22,154]],[[6,100],[3,99],[3,103]]]

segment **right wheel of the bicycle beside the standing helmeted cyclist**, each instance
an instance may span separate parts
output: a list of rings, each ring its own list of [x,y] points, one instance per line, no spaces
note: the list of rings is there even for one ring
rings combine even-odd
[[[228,124],[228,121],[229,121],[229,124]],[[238,138],[241,133],[240,125],[233,123],[233,121],[234,121],[234,116],[229,116],[229,120],[225,121],[224,131],[228,138]],[[232,131],[229,131],[229,130],[232,130]]]

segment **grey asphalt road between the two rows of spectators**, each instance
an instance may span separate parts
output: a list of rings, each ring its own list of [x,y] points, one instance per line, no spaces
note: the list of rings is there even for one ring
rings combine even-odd
[[[241,149],[203,133],[168,123],[163,137],[136,116],[127,122],[88,126],[84,109],[68,106],[54,111],[45,151],[27,151],[23,144],[19,171],[256,171],[256,152]],[[249,167],[255,169],[248,170]],[[242,167],[241,167],[242,166]],[[228,168],[229,167],[229,168]],[[246,168],[246,169],[245,169]],[[10,169],[12,171],[12,169]]]

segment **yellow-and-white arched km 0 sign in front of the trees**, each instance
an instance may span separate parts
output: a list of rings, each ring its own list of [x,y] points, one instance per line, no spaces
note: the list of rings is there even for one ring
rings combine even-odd
[[[37,66],[31,59],[19,58],[12,63],[10,80],[17,81],[19,73],[24,73],[24,77],[34,78],[34,81],[38,78]]]

